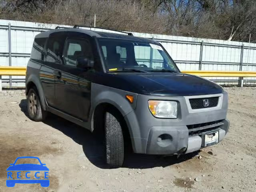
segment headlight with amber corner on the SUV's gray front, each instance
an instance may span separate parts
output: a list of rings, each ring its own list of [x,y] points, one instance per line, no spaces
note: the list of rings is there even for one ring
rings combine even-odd
[[[176,101],[149,100],[148,108],[158,118],[177,118],[178,104]]]

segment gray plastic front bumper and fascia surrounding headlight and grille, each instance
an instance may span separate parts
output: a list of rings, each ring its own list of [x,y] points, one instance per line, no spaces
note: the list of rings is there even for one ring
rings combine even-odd
[[[219,120],[224,123],[219,127],[219,141],[221,141],[229,128],[229,121],[226,120],[228,96],[226,92],[222,94],[223,102],[220,108],[214,110],[209,108],[204,112],[190,112],[183,96],[166,97],[138,94],[135,110],[124,116],[134,152],[143,154],[179,154],[199,150],[202,148],[202,138],[200,134],[190,137],[187,125]],[[155,118],[148,109],[148,100],[177,101],[178,118]]]

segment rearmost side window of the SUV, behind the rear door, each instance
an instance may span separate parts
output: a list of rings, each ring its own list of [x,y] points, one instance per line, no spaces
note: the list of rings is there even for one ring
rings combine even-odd
[[[31,59],[44,60],[44,45],[46,43],[46,38],[35,38],[31,55]]]

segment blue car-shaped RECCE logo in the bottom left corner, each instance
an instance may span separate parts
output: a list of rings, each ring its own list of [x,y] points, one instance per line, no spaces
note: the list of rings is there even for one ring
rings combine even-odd
[[[18,159],[37,159],[40,164],[16,164]],[[38,157],[18,157],[16,158],[13,164],[10,164],[10,167],[6,169],[7,171],[7,180],[6,186],[7,187],[14,187],[16,183],[40,183],[42,187],[48,187],[50,185],[50,180],[48,179],[48,171],[49,169],[46,167],[46,164],[42,164]],[[17,175],[14,175],[12,171],[17,171]],[[21,172],[20,171],[27,171],[25,174],[26,179],[21,179]],[[34,174],[35,179],[30,179],[30,171],[36,171]],[[40,171],[44,172],[44,179],[40,179],[38,174]]]

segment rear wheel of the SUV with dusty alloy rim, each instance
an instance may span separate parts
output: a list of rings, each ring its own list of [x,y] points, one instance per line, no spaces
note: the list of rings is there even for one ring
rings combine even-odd
[[[35,87],[28,91],[27,110],[29,118],[33,121],[43,121],[46,118],[47,112],[41,107],[41,101]]]

